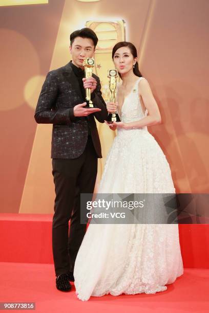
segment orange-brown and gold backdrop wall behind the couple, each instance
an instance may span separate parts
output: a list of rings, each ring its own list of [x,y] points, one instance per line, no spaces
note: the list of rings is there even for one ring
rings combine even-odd
[[[208,193],[208,12],[207,0],[0,1],[0,212],[53,213],[52,125],[37,125],[34,110],[47,73],[71,59],[70,33],[83,27],[99,38],[94,73],[106,101],[114,44],[135,44],[162,116],[149,131],[176,192]],[[95,191],[116,135],[97,126],[103,159]]]

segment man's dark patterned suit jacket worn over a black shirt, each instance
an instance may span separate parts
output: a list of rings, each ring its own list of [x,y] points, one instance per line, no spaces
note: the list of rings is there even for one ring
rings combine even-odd
[[[108,111],[101,96],[99,78],[94,74],[93,77],[97,80],[97,87],[92,94],[92,101],[94,107],[100,108],[101,111],[88,117],[75,117],[73,108],[83,103],[83,98],[71,62],[47,74],[35,110],[35,120],[37,123],[53,124],[51,158],[78,158],[86,147],[88,122],[97,156],[102,158],[94,116],[103,123],[107,120]]]

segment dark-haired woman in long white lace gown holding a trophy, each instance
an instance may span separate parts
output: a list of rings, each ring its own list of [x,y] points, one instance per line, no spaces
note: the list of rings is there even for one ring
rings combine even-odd
[[[117,103],[121,122],[107,157],[98,193],[175,193],[169,164],[147,126],[161,122],[148,81],[138,69],[137,51],[119,42],[112,52],[122,82]],[[80,300],[112,294],[155,294],[183,274],[178,225],[93,225],[87,230],[74,267]]]

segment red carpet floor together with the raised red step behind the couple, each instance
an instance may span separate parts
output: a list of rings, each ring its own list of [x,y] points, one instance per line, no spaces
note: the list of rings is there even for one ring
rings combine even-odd
[[[179,225],[186,269],[166,292],[88,302],[77,299],[74,286],[70,293],[55,287],[51,227],[52,214],[0,214],[0,302],[35,302],[41,313],[209,311],[209,225]]]

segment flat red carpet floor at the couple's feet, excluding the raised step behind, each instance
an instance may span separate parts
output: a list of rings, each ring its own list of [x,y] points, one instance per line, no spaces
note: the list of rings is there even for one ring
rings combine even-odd
[[[52,264],[1,262],[0,277],[1,302],[35,302],[35,312],[38,313],[209,311],[209,270],[185,269],[183,276],[168,285],[168,290],[163,293],[118,297],[107,295],[91,297],[87,302],[77,299],[74,286],[70,293],[56,289]]]

